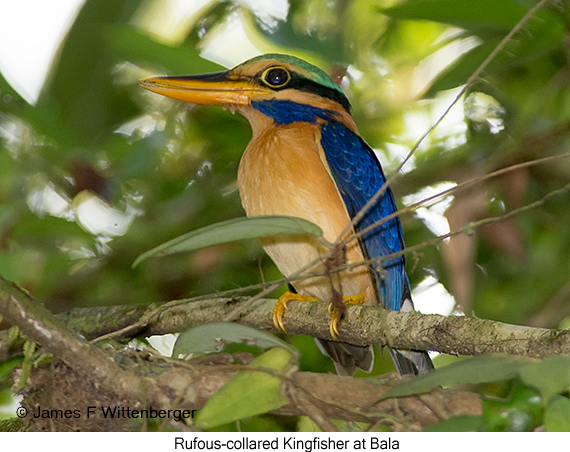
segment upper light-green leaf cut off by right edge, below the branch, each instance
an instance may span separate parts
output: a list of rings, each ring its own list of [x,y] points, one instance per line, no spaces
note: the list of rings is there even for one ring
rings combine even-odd
[[[551,356],[527,364],[521,370],[521,378],[527,385],[537,388],[544,401],[570,387],[570,357]]]

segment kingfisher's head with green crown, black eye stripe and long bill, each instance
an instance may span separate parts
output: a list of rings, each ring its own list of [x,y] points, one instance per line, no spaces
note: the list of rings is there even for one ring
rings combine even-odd
[[[289,55],[266,54],[228,71],[152,77],[139,83],[173,99],[221,105],[249,118],[251,111],[260,111],[280,124],[325,119],[326,115],[337,120],[350,118],[350,103],[332,78],[318,67]]]

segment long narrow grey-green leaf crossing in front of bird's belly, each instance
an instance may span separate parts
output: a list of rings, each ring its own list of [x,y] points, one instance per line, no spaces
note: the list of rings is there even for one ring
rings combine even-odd
[[[311,235],[313,237],[322,237],[323,231],[316,224],[297,217],[267,215],[234,218],[196,229],[169,240],[141,254],[135,260],[133,267],[152,256],[194,251],[221,243],[273,235]]]

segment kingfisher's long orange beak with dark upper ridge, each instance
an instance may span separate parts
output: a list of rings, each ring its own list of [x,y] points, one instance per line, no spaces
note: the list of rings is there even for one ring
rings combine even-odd
[[[151,77],[139,80],[139,85],[166,97],[202,105],[249,105],[253,96],[271,93],[249,80],[232,76],[229,71]]]

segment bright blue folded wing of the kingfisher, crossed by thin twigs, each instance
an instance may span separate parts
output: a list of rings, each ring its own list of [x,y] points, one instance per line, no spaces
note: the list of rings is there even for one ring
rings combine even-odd
[[[366,142],[338,122],[326,122],[321,128],[323,146],[329,167],[351,218],[386,183],[382,166]],[[397,210],[388,188],[356,225],[362,230]],[[400,219],[395,217],[366,233],[360,244],[364,256],[376,258],[404,249]],[[399,311],[409,297],[405,257],[400,256],[373,266],[377,291],[385,307]]]

